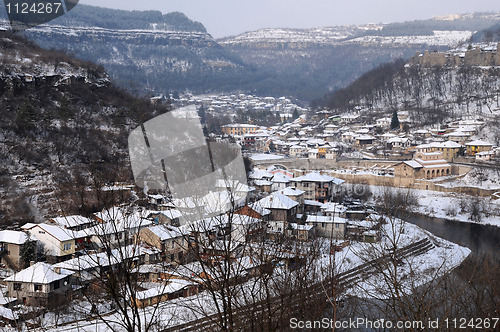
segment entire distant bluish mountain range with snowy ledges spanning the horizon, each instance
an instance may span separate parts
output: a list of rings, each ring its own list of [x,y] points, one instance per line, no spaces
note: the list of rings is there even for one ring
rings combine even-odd
[[[311,29],[263,29],[214,40],[181,13],[78,5],[51,25],[27,31],[43,47],[105,66],[132,91],[245,92],[310,101],[362,73],[415,51],[446,50],[498,14]]]

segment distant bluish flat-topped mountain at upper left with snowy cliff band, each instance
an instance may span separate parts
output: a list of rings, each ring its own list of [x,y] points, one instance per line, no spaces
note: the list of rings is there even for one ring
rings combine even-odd
[[[25,34],[45,48],[104,65],[114,83],[141,93],[224,88],[245,69],[201,23],[181,13],[78,5]]]

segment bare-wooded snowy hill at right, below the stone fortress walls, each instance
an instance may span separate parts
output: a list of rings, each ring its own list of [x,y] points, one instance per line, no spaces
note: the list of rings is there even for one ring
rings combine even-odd
[[[467,44],[385,63],[312,103],[336,112],[410,112],[413,125],[462,116],[494,118],[500,109],[500,44]]]

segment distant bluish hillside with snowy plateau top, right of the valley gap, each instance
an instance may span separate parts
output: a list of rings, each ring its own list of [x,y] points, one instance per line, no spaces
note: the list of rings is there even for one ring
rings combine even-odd
[[[456,47],[499,18],[469,14],[387,25],[262,29],[218,42],[245,63],[276,72],[275,89],[311,100],[381,63],[408,58],[415,51]]]

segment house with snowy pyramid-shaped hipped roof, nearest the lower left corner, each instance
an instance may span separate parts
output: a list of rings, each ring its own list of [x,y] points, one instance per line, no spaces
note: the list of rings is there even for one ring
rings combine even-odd
[[[9,296],[26,305],[51,307],[70,298],[72,274],[72,271],[39,262],[6,278],[5,282]]]

